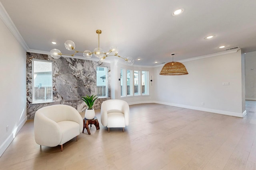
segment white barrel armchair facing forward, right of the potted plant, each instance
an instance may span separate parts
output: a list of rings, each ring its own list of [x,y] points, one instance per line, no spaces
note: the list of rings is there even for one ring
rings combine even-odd
[[[130,108],[124,100],[112,99],[102,102],[100,109],[100,120],[103,126],[124,127],[129,125]]]

